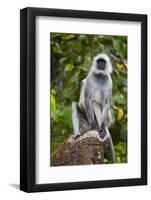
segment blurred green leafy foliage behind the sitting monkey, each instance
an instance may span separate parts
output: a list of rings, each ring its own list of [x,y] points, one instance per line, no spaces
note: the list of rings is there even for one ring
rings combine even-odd
[[[51,153],[72,134],[72,101],[79,99],[81,81],[89,72],[92,58],[104,52],[113,64],[110,132],[116,162],[127,162],[127,37],[51,33],[50,46]]]

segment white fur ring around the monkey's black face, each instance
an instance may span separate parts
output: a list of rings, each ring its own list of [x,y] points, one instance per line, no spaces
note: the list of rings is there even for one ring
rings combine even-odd
[[[96,66],[97,62],[96,61],[99,58],[102,58],[102,59],[104,59],[106,61],[106,68],[105,68],[105,70],[99,70],[99,69],[97,69],[97,66]],[[99,74],[99,73],[102,73],[102,74],[111,74],[112,73],[112,63],[111,63],[111,60],[110,60],[109,56],[107,54],[104,54],[104,53],[98,54],[93,59],[92,68],[91,69],[96,74]]]

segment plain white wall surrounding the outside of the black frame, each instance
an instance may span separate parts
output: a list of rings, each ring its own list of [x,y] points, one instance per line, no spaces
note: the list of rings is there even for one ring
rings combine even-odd
[[[19,9],[26,6],[52,7],[81,10],[98,10],[128,13],[148,14],[148,55],[151,54],[151,4],[150,0],[5,0],[0,6],[0,199],[10,200],[68,200],[68,199],[150,199],[151,173],[149,170],[149,185],[141,187],[123,187],[94,189],[81,191],[63,191],[25,194],[16,189],[19,184]],[[151,66],[151,58],[148,58]],[[150,67],[148,74],[151,74]],[[151,79],[149,76],[149,88]],[[151,93],[149,90],[149,102]],[[149,133],[151,132],[151,107],[149,106]],[[8,123],[9,122],[9,123]],[[151,136],[148,135],[149,166],[151,168]]]

